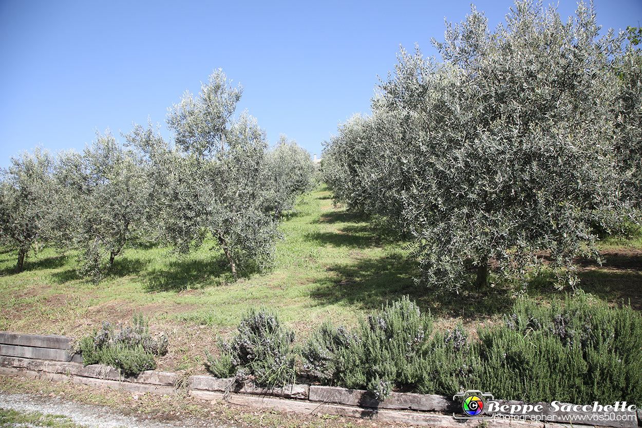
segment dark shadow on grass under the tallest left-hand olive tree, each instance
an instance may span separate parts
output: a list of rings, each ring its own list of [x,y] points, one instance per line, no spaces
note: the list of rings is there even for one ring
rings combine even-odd
[[[213,260],[172,260],[167,269],[152,269],[144,274],[147,292],[202,289],[227,280],[229,265],[221,258]]]

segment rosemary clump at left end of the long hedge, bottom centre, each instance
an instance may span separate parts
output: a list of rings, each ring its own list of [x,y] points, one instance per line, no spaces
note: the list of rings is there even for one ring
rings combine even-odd
[[[385,400],[392,388],[421,388],[433,329],[408,297],[361,319],[351,331],[325,323],[301,351],[302,374],[324,384],[365,388]]]

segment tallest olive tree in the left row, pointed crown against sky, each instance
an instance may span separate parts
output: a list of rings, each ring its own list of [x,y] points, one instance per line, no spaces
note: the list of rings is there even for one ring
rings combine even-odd
[[[215,71],[198,96],[184,94],[169,111],[174,145],[142,127],[127,136],[148,162],[158,236],[183,253],[211,236],[234,278],[264,267],[278,235],[265,132],[247,112],[232,117],[241,93]]]

